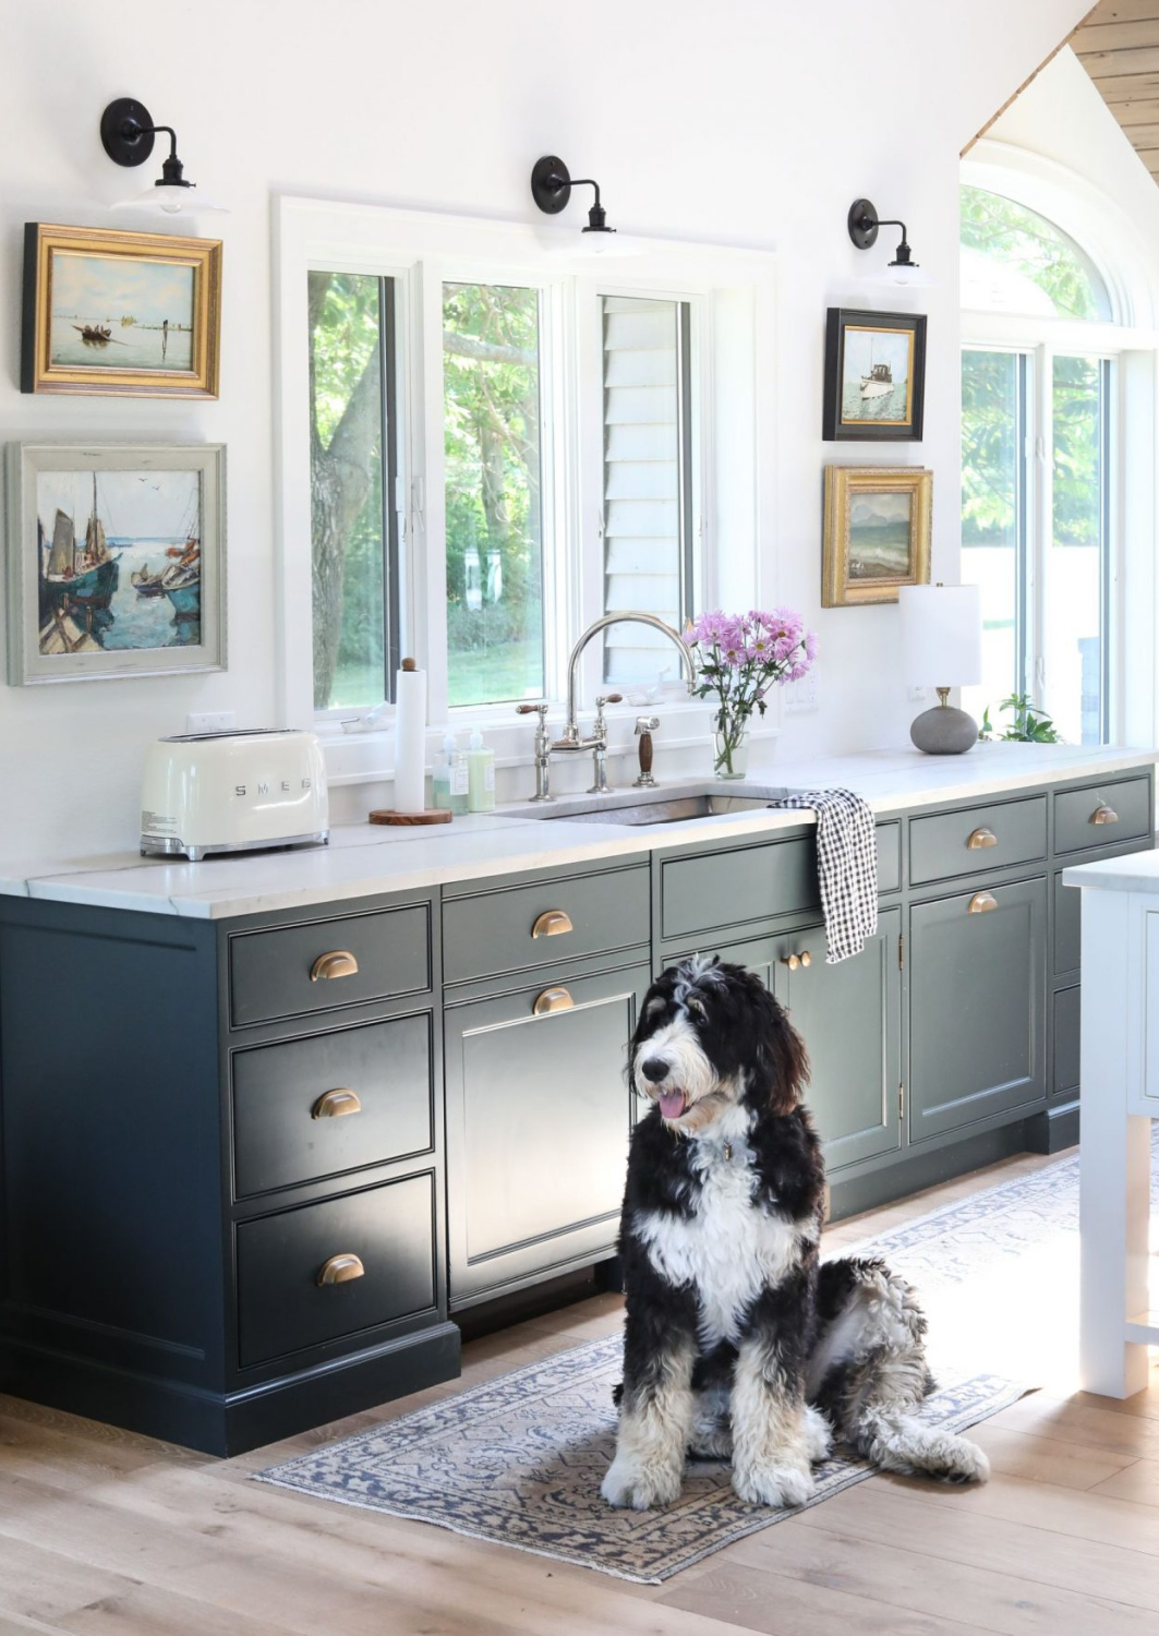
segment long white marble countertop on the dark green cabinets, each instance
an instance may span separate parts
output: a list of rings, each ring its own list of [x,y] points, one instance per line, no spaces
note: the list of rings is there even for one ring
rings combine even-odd
[[[978,744],[964,756],[924,756],[915,749],[865,751],[819,761],[781,762],[776,756],[750,769],[745,782],[665,782],[664,795],[711,789],[723,795],[799,792],[840,785],[857,790],[875,813],[982,800],[1009,790],[1099,777],[1159,761],[1151,749],[1090,749],[1074,744]],[[610,798],[631,802],[634,790]],[[348,825],[330,844],[301,851],[239,852],[201,864],[142,859],[137,852],[103,857],[0,862],[0,893],[54,903],[83,903],[193,919],[338,903],[383,892],[417,892],[456,880],[588,864],[610,857],[646,857],[691,841],[737,839],[811,823],[809,811],[760,808],[685,823],[628,826],[574,823],[569,811],[590,808],[590,797],[562,797],[549,821],[541,808],[505,807],[486,816],[456,818],[438,828],[384,829]],[[1064,879],[1094,885],[1087,872],[1141,869],[1139,859],[1067,869]],[[1159,864],[1156,864],[1159,869]],[[1102,877],[1100,877],[1102,879]],[[1152,872],[1152,879],[1154,872]],[[1108,877],[1105,883],[1112,883]],[[1118,885],[1118,877],[1115,877]],[[1126,887],[1123,890],[1138,890]]]

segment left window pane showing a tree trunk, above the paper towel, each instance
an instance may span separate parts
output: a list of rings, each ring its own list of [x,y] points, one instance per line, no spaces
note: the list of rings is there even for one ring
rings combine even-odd
[[[366,708],[399,648],[394,280],[311,272],[309,344],[314,708]]]

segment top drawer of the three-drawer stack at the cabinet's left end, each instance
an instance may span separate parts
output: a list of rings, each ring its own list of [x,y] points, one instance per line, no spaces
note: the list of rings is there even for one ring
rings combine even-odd
[[[327,955],[347,955],[329,962]],[[234,1027],[307,1016],[432,987],[430,908],[343,915],[229,939]]]

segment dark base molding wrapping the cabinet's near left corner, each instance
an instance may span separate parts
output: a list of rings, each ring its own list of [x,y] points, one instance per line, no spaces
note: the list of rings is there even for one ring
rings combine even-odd
[[[0,1342],[2,1391],[222,1458],[458,1374],[454,1324],[436,1324],[240,1392],[162,1381],[25,1340]]]

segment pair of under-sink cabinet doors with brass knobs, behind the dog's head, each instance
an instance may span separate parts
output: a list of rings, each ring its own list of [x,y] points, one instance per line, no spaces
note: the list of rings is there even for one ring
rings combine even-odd
[[[826,965],[824,926],[709,951],[747,967],[788,1008],[809,1050],[806,1103],[829,1170],[901,1145],[899,936],[901,910],[884,910],[876,937],[839,965]],[[793,954],[809,965],[790,969]]]

